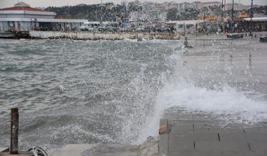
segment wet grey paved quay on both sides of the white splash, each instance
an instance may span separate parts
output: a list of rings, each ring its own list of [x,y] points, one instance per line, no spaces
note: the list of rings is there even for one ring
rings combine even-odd
[[[210,89],[220,88],[219,84],[227,84],[236,86],[240,92],[254,90],[256,93],[267,93],[267,44],[259,40],[260,36],[266,34],[267,32],[259,32],[255,37],[253,33],[252,39],[245,34],[242,39],[229,39],[226,35],[188,35],[186,40],[183,40],[187,41],[188,47],[184,46],[179,50],[179,60],[174,75],[179,75],[188,81],[197,81],[195,85],[204,88],[210,86],[211,81],[215,81],[213,83],[218,86],[211,86]],[[227,102],[229,101],[224,101]],[[251,101],[251,105],[252,102],[255,101]],[[228,120],[229,114],[190,112],[179,106],[170,106],[165,109],[159,121],[159,136],[148,137],[141,145],[68,144],[59,151],[48,151],[47,154],[49,156],[266,155],[266,122],[243,121],[243,116],[238,115],[234,117],[240,119],[240,122]],[[2,151],[0,156],[9,155],[8,147],[0,150]]]

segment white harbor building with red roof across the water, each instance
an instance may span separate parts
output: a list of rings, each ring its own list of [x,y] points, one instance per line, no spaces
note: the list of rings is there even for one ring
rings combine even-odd
[[[19,2],[14,7],[0,9],[0,31],[79,31],[87,19],[56,17],[56,12],[40,10]]]

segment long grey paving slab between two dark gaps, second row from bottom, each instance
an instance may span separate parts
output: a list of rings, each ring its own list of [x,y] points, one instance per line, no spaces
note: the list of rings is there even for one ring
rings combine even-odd
[[[240,141],[196,141],[196,150],[242,150],[249,151],[247,142]]]

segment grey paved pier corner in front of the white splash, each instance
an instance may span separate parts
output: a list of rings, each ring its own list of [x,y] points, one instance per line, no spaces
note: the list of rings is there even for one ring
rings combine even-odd
[[[267,154],[267,126],[227,128],[205,121],[204,116],[165,111],[170,132],[160,136],[160,156],[263,156]],[[186,120],[185,120],[186,119]],[[188,120],[191,119],[191,120]],[[205,124],[208,123],[208,124]],[[215,124],[215,125],[214,125]],[[162,135],[162,134],[161,134]],[[162,144],[161,144],[162,143]]]

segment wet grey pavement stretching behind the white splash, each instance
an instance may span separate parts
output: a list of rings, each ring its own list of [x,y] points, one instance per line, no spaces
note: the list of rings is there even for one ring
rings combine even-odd
[[[179,76],[205,87],[228,84],[242,91],[267,93],[267,44],[259,38],[189,36],[188,45],[194,48],[182,51],[176,67]]]

